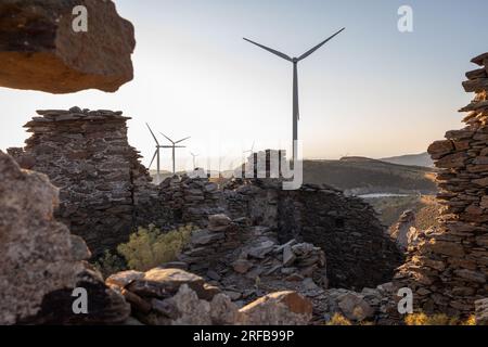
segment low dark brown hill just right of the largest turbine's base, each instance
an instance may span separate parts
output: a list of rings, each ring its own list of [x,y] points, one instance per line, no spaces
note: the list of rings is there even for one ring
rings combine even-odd
[[[305,160],[304,181],[325,183],[349,194],[434,194],[433,169],[406,166],[364,157],[339,160]]]

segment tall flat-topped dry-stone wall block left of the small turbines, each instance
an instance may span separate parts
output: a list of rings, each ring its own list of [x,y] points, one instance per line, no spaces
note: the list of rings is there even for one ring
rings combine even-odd
[[[48,175],[60,188],[59,219],[94,255],[125,242],[136,224],[134,198],[150,195],[144,190],[151,182],[128,144],[130,118],[79,107],[37,113],[25,126],[33,136],[24,152],[16,153],[18,162],[30,162],[30,169]]]

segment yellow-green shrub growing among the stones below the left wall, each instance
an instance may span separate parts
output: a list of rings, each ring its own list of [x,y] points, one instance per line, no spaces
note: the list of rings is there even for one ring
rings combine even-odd
[[[155,226],[139,230],[130,235],[129,242],[117,247],[132,270],[147,271],[175,260],[190,242],[193,226],[181,227],[163,233]]]

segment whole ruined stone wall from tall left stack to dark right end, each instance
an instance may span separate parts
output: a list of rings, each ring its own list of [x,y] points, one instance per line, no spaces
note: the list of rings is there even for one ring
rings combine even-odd
[[[333,188],[283,191],[281,179],[234,179],[219,187],[188,176],[154,185],[128,144],[129,118],[120,112],[73,107],[38,114],[26,125],[33,136],[25,149],[9,153],[60,188],[56,217],[95,257],[127,242],[137,227],[205,228],[208,216],[227,214],[277,232],[278,245],[296,240],[321,247],[334,287],[374,287],[388,282],[401,264],[373,208]]]

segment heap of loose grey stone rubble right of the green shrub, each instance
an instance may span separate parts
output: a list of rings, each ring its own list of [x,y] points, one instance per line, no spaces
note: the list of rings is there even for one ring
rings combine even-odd
[[[178,261],[163,267],[200,274],[237,306],[282,290],[318,295],[328,285],[321,248],[295,240],[281,245],[275,231],[226,215],[210,216],[206,229],[193,232]]]

